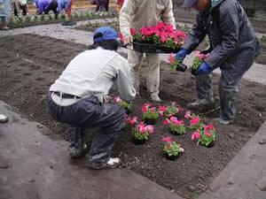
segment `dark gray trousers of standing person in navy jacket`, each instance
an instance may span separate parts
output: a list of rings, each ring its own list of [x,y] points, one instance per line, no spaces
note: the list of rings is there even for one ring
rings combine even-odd
[[[243,50],[235,57],[228,58],[221,69],[219,96],[221,115],[224,120],[235,118],[239,93],[239,80],[254,63],[254,50]],[[209,100],[213,97],[212,74],[196,76],[196,89],[199,99]]]

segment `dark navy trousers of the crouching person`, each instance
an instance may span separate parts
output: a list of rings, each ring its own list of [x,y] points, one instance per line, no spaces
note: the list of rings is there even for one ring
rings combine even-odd
[[[124,109],[119,104],[100,103],[96,96],[60,106],[51,99],[51,92],[47,105],[53,119],[71,126],[71,144],[80,144],[85,128],[99,126],[100,132],[95,134],[90,146],[89,159],[93,165],[106,164],[124,127]]]

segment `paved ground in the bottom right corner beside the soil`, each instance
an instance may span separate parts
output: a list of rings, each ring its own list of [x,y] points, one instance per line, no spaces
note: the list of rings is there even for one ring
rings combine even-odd
[[[266,198],[266,121],[199,199]]]

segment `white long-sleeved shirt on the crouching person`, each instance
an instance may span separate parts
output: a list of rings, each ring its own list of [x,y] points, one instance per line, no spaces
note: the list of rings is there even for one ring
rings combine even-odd
[[[82,98],[97,96],[103,102],[114,82],[121,99],[129,102],[135,98],[128,61],[115,51],[98,48],[74,57],[50,91]]]

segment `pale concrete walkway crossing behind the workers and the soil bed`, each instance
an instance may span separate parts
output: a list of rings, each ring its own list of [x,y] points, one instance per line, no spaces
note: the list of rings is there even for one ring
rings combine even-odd
[[[112,21],[113,19],[94,19],[90,20],[90,22],[98,22],[98,21]],[[86,24],[88,21],[80,21],[77,23],[77,26]],[[179,23],[180,25],[184,25],[183,23]],[[191,25],[188,25],[191,26]],[[92,33],[85,32],[81,30],[76,30],[74,27],[65,27],[61,24],[51,24],[44,26],[36,26],[36,27],[23,27],[11,29],[8,31],[0,31],[0,36],[5,35],[14,35],[14,34],[40,34],[43,36],[51,36],[57,39],[63,39],[70,42],[77,42],[82,44],[91,44],[92,43]],[[258,36],[262,36],[262,34],[258,34]],[[127,50],[122,50],[123,52],[127,52]],[[167,61],[168,55],[160,54],[161,60]],[[185,65],[192,65],[193,53],[190,56],[187,56],[184,59]],[[220,73],[220,69],[216,69],[214,73]],[[246,80],[255,81],[266,85],[266,65],[260,65],[254,63],[254,65],[248,70],[245,74],[244,78]]]

